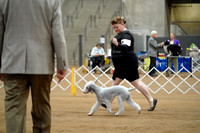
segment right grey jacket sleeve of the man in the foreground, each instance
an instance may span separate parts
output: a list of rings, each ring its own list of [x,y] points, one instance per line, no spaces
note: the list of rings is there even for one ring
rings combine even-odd
[[[67,70],[69,67],[67,46],[62,24],[61,3],[59,0],[55,0],[53,9],[54,13],[52,19],[52,38],[57,59],[57,69]]]

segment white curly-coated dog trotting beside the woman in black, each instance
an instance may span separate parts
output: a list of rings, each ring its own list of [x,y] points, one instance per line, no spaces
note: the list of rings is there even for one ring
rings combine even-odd
[[[111,110],[111,101],[115,98],[115,96],[118,96],[119,104],[119,110],[115,115],[120,115],[124,112],[124,101],[131,105],[131,107],[135,108],[140,114],[141,108],[131,99],[131,94],[129,92],[130,90],[132,89],[127,89],[126,87],[120,85],[101,88],[93,81],[86,83],[83,92],[85,94],[89,92],[94,92],[96,94],[96,103],[93,105],[88,115],[93,115],[102,103],[106,104],[109,113],[114,114],[114,112]]]

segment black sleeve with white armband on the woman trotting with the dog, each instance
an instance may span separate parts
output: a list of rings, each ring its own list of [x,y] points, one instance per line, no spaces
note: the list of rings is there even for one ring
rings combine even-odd
[[[124,34],[123,39],[121,39],[121,41],[118,41],[118,47],[123,51],[129,50],[131,47],[131,43],[134,43],[131,41],[133,41],[131,39],[131,36],[129,34]]]

